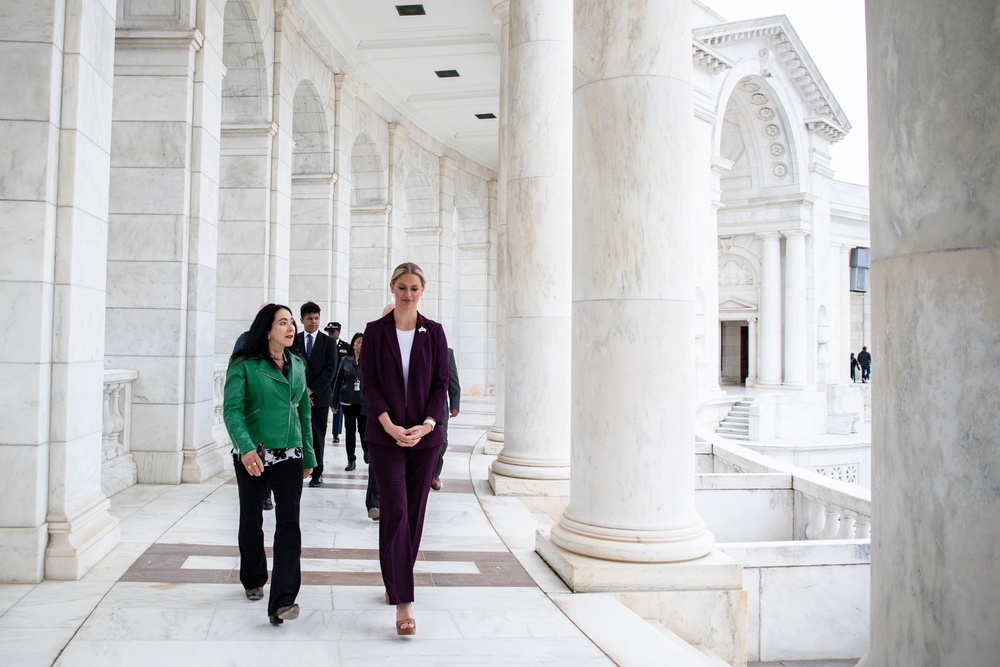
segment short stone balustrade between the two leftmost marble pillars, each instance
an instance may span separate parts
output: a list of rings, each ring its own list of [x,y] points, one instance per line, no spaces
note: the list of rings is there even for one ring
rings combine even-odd
[[[101,490],[113,496],[136,482],[132,459],[132,383],[138,371],[104,371]]]

